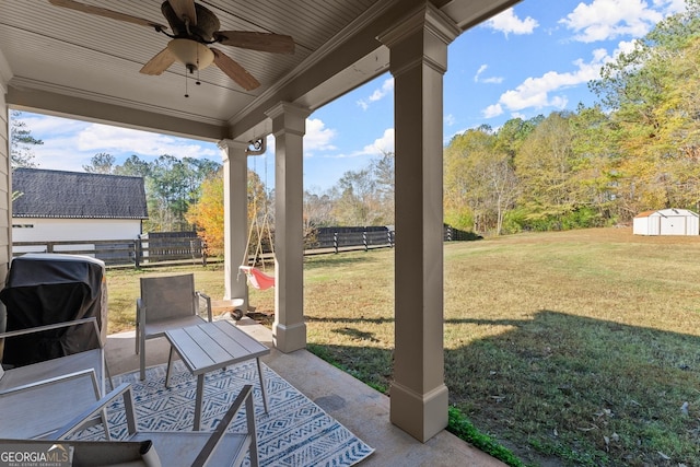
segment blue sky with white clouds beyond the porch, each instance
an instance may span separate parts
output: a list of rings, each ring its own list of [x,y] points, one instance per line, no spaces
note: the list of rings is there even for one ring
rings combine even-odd
[[[445,144],[483,124],[498,128],[510,118],[593,104],[587,82],[600,67],[684,5],[682,0],[524,0],[467,31],[448,49]],[[393,90],[387,73],[308,117],[305,189],[329,189],[346,172],[394,151]],[[81,172],[101,152],[117,163],[131,154],[147,161],[162,154],[221,161],[217,147],[201,141],[35,114],[22,119],[44,141],[33,149],[40,168]],[[264,177],[267,167],[268,185],[273,183],[271,156],[249,162]]]

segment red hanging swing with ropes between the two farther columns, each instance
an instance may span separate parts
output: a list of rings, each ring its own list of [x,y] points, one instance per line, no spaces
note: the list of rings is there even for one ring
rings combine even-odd
[[[254,162],[255,164],[255,162]],[[255,165],[253,171],[255,172]],[[267,164],[265,164],[265,187],[267,189]],[[267,192],[266,192],[267,195]],[[258,197],[253,197],[253,221],[250,222],[250,229],[248,230],[248,240],[246,242],[245,250],[243,252],[243,259],[238,270],[246,275],[250,287],[257,290],[268,290],[275,287],[275,277],[270,276],[266,271],[265,256],[262,252],[262,237],[267,234],[267,240],[270,245],[272,257],[275,257],[275,242],[272,241],[272,232],[270,230],[270,218],[268,213],[267,200],[265,202],[265,210],[262,212],[262,220],[258,221]],[[255,253],[253,254],[253,266],[249,265],[248,250],[250,249],[250,242],[253,240],[253,232],[255,231],[257,236],[257,245]],[[255,267],[260,260],[262,270]]]

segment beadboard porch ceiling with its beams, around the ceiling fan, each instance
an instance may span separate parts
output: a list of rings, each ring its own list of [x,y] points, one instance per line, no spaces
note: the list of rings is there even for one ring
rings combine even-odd
[[[80,0],[167,25],[162,0]],[[312,109],[387,71],[376,35],[424,4],[419,0],[199,0],[222,31],[294,38],[293,55],[217,45],[259,82],[245,91],[211,66],[187,80],[174,63],[139,73],[170,40],[151,27],[49,4],[0,0],[0,82],[11,107],[217,140],[261,135],[280,101]],[[463,30],[516,0],[433,0]]]

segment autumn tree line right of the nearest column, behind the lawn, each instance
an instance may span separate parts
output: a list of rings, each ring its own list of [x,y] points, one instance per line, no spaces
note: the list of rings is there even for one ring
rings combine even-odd
[[[445,221],[477,233],[628,223],[700,201],[700,2],[590,83],[575,112],[481,126],[445,149]]]

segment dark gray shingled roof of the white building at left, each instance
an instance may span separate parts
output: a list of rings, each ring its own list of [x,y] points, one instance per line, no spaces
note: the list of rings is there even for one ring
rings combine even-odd
[[[15,168],[13,218],[148,219],[143,178]]]

